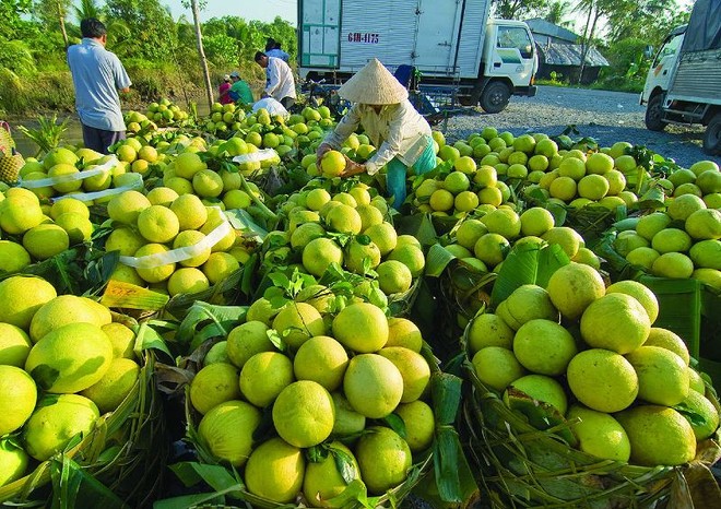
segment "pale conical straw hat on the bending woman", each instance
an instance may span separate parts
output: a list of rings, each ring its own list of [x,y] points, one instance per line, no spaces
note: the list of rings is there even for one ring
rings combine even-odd
[[[374,58],[346,81],[338,94],[351,103],[381,105],[405,100],[409,91]]]

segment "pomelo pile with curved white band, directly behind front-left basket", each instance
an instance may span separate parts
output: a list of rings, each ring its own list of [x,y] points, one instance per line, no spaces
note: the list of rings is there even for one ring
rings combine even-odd
[[[198,293],[250,257],[223,211],[208,208],[196,194],[177,196],[167,188],[147,196],[125,191],[108,202],[107,212],[113,230],[104,248],[129,257],[120,258],[111,280],[170,296]]]

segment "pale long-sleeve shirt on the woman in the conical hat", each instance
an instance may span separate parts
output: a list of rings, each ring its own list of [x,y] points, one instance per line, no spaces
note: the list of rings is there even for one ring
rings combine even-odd
[[[370,105],[354,104],[323,143],[339,150],[358,125],[378,147],[365,163],[368,175],[378,173],[395,156],[404,165],[412,166],[430,143],[430,126],[407,99],[383,106],[378,114]]]

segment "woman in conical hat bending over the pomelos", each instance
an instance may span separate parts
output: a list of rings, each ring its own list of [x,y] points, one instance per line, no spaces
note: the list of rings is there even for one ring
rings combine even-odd
[[[430,126],[409,100],[407,90],[378,59],[370,60],[338,93],[353,106],[318,146],[316,155],[320,158],[331,149],[340,150],[358,125],[363,126],[378,151],[365,164],[347,159],[341,177],[363,171],[375,175],[386,166],[388,194],[393,197],[393,208],[400,209],[409,168],[422,175],[436,167]]]

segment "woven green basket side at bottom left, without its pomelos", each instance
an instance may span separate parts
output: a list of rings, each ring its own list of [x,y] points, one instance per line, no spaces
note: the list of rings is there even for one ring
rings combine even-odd
[[[0,487],[0,505],[44,506],[62,500],[67,505],[63,507],[90,507],[84,497],[114,495],[115,500],[109,502],[133,508],[152,506],[162,487],[167,459],[163,445],[167,440],[162,402],[155,390],[155,354],[145,351],[143,359],[138,381],[122,403],[113,413],[102,415],[93,431],[78,437],[62,453]],[[68,485],[74,483],[83,484],[88,492],[71,494]]]

